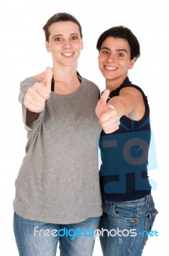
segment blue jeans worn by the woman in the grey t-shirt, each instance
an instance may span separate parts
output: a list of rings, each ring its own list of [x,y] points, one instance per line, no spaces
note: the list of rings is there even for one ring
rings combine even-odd
[[[27,220],[14,212],[13,229],[19,255],[55,256],[59,241],[61,256],[91,256],[94,238],[89,236],[90,230],[98,228],[99,219],[59,225]]]

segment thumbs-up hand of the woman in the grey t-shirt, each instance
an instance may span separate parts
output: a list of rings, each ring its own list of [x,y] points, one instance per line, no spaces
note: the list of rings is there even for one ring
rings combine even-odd
[[[40,113],[45,108],[45,102],[50,98],[52,76],[52,68],[47,67],[43,82],[35,83],[27,90],[24,105],[29,111]]]

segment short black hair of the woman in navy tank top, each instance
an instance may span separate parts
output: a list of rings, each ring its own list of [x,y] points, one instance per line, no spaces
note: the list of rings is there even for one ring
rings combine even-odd
[[[124,27],[124,26],[117,26],[110,28],[103,32],[99,38],[96,45],[96,48],[98,51],[101,51],[101,45],[103,44],[103,41],[108,37],[113,36],[115,38],[123,38],[128,41],[128,44],[130,46],[130,59],[133,60],[133,58],[139,58],[140,57],[140,44],[136,38],[136,36],[131,32],[130,29]]]

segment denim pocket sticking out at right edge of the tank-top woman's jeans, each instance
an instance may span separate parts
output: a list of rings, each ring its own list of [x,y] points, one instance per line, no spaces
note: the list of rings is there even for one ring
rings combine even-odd
[[[156,215],[158,214],[158,211],[153,208],[151,211],[146,213],[146,218],[145,218],[145,232],[144,232],[144,244],[146,244],[147,239],[149,237],[149,232],[152,230],[152,226],[154,223],[154,220],[156,218]]]

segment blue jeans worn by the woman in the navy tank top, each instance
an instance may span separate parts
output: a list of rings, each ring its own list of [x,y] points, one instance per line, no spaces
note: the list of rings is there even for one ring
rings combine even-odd
[[[151,195],[127,202],[103,200],[99,229],[108,230],[99,237],[103,256],[142,255],[157,213]]]

